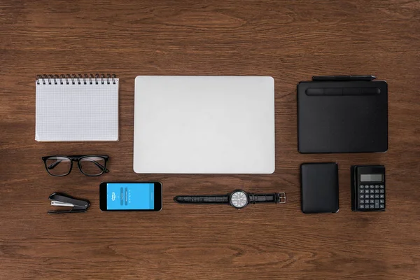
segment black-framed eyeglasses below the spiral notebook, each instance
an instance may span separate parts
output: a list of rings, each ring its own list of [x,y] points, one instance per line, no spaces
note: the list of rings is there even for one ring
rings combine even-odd
[[[66,176],[71,172],[73,162],[77,162],[80,172],[86,176],[99,176],[108,173],[108,155],[50,155],[42,157],[45,169],[52,176]]]

